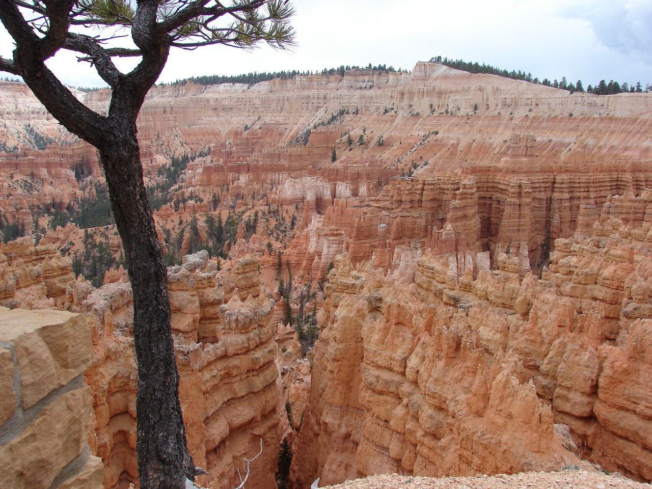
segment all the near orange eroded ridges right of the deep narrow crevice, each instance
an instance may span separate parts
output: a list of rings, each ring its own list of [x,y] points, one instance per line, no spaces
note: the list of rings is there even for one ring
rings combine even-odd
[[[554,423],[569,426],[574,455],[649,480],[649,387],[634,380],[650,368],[649,233],[596,222],[557,239],[541,279],[524,273],[518,243],[497,269],[462,276],[456,254],[426,252],[413,282],[338,256],[299,486],[551,469],[569,456]]]

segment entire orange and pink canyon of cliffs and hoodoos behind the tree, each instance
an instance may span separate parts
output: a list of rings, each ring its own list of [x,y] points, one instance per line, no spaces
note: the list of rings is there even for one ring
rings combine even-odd
[[[145,101],[200,482],[237,486],[261,437],[247,487],[582,459],[652,479],[652,96],[372,68]],[[0,304],[86,316],[89,447],[123,487],[131,298],[98,158],[22,83],[0,113],[3,226],[28,236],[0,246]]]

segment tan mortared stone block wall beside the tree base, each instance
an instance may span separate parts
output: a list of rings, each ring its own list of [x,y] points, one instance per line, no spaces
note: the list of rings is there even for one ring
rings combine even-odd
[[[88,446],[91,354],[83,316],[0,307],[0,487],[102,487]]]

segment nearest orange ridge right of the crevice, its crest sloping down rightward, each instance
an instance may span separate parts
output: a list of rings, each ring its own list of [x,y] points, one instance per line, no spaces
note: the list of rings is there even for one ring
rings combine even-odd
[[[482,351],[464,310],[419,300],[417,285],[336,262],[293,467],[299,485],[554,466],[563,449],[552,412],[517,357]]]

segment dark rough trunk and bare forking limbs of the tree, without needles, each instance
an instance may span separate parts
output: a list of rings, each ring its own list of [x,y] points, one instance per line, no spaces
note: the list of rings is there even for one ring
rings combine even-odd
[[[194,464],[186,445],[179,403],[167,269],[143,184],[136,135],[136,118],[147,91],[166,63],[170,41],[164,33],[154,32],[156,0],[140,0],[134,40],[143,58],[130,74],[119,74],[110,57],[95,50],[101,48],[91,46],[88,38],[67,36],[67,12],[72,0],[53,5],[56,9],[51,12],[51,32],[38,38],[16,5],[0,1],[0,20],[16,40],[10,68],[23,77],[56,119],[100,152],[134,294],[140,487],[183,489],[186,478],[194,479]],[[44,61],[53,52],[66,42],[75,41],[80,51],[94,57],[98,72],[113,88],[107,117],[79,102],[45,66]],[[82,42],[87,44],[82,46]]]

